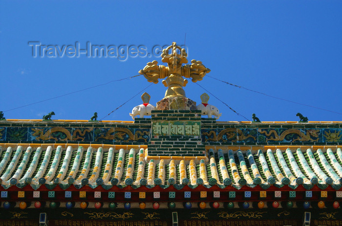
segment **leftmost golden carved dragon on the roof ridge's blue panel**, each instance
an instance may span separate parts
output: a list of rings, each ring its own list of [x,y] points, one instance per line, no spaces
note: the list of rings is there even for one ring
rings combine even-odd
[[[67,141],[67,140],[81,140],[84,141],[85,137],[85,133],[86,132],[91,132],[92,129],[85,129],[83,132],[80,129],[75,130],[72,134],[65,128],[63,127],[55,127],[55,128],[51,128],[50,130],[46,131],[44,133],[44,129],[39,129],[39,128],[32,128],[33,134],[34,136],[38,136],[36,137],[37,141],[40,140],[60,140],[60,141]],[[65,134],[65,138],[64,139],[58,139],[56,137],[53,136],[53,133],[55,132],[62,132]]]

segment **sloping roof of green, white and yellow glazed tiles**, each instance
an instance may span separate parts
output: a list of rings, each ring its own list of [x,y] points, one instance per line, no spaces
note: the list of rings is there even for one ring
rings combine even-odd
[[[257,151],[208,151],[209,161],[145,158],[145,149],[119,149],[105,147],[77,148],[67,146],[0,147],[0,181],[3,188],[11,186],[34,189],[45,185],[63,189],[89,186],[104,189],[117,186],[152,188],[184,186],[206,188],[244,186],[267,189],[271,186],[295,189],[303,186],[341,188],[341,148],[313,149],[277,147]]]

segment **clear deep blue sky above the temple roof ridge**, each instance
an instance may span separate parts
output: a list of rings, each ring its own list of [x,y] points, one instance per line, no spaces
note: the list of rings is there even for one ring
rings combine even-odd
[[[251,120],[342,121],[342,1],[9,1],[0,2],[0,111],[6,111],[138,75],[160,57],[33,57],[28,42],[41,45],[155,45],[188,47],[188,60],[201,60],[208,75],[246,88],[312,105],[330,113],[226,85],[205,76],[198,83]],[[40,54],[40,53],[39,53]],[[6,111],[6,118],[99,118],[150,85],[143,77]],[[187,97],[200,103],[205,91],[189,81]],[[146,92],[150,103],[164,97],[161,81]],[[140,95],[107,116],[131,120]],[[211,96],[220,121],[244,121]],[[340,113],[340,114],[338,114]]]

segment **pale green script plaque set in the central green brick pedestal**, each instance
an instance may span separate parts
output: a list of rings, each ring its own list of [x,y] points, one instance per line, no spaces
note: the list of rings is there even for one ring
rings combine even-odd
[[[199,121],[155,121],[152,123],[153,136],[199,136],[200,130]]]

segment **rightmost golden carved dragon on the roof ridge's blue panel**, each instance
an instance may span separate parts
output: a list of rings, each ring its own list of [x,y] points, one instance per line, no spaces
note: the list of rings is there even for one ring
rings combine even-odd
[[[299,137],[296,138],[296,139],[293,139],[292,142],[295,142],[295,141],[318,141],[320,139],[319,138],[320,131],[319,130],[314,130],[314,129],[307,130],[306,134],[301,132],[298,129],[289,129],[289,130],[286,130],[286,131],[282,132],[280,135],[278,135],[278,132],[275,131],[275,130],[271,130],[270,132],[266,132],[266,131],[261,131],[261,129],[258,129],[258,132],[268,136],[266,141],[269,141],[269,140],[282,141],[289,134],[297,134],[297,135],[299,135]],[[271,135],[273,135],[274,137],[269,137]],[[317,137],[317,139],[313,139],[311,136],[312,137]]]

